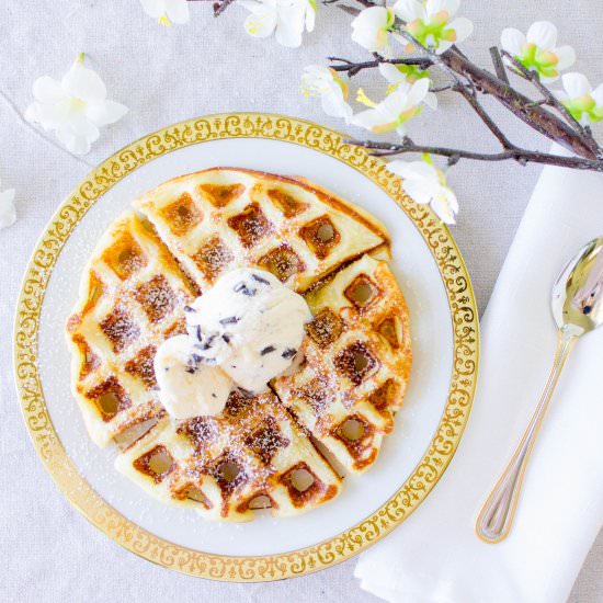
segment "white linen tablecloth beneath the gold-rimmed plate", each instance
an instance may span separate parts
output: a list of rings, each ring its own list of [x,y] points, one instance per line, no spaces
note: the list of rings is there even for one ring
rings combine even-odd
[[[211,2],[193,3],[191,9],[190,24],[166,30],[141,12],[137,0],[0,2],[0,179],[3,186],[16,189],[19,214],[13,227],[0,231],[0,601],[377,601],[353,578],[355,560],[292,581],[239,585],[180,576],[138,559],[70,508],[37,460],[19,412],[11,331],[21,275],[46,220],[90,167],[148,132],[206,113],[277,112],[342,128],[341,122],[321,113],[318,102],[299,94],[298,78],[305,65],[327,55],[365,56],[349,39],[349,16],[319,7],[316,31],[300,49],[291,50],[274,41],[247,37],[246,11],[239,7],[228,9],[218,21],[211,14]],[[533,21],[549,18],[557,21],[560,43],[577,49],[577,69],[587,72],[593,84],[603,80],[600,0],[574,0],[570,9],[562,0],[465,0],[462,13],[476,24],[464,49],[485,65],[488,47],[498,43],[502,27],[525,31]],[[60,77],[80,52],[102,75],[110,98],[128,105],[130,113],[103,130],[89,156],[75,158],[21,115],[31,101],[33,80],[42,75]],[[377,82],[371,81],[365,87],[368,93]],[[460,100],[442,96],[441,105],[435,118],[426,110],[413,124],[417,140],[492,148],[489,135]],[[526,145],[537,139],[510,116],[502,116],[501,123],[512,139]],[[454,235],[481,308],[538,173],[537,167],[469,162],[451,172],[462,204]],[[420,514],[421,509],[417,521]],[[570,602],[602,601],[600,537]]]

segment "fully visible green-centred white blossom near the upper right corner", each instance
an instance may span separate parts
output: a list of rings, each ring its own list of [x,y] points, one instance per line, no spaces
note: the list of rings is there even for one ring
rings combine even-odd
[[[543,81],[555,81],[559,71],[576,61],[571,46],[557,47],[557,27],[548,21],[533,23],[526,35],[507,27],[500,36],[500,45],[526,69],[537,71]],[[505,58],[505,62],[510,61]]]

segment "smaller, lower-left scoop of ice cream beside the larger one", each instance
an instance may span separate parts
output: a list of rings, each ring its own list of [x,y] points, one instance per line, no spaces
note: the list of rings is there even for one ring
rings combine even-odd
[[[175,419],[221,412],[232,388],[219,366],[202,362],[194,343],[189,335],[172,337],[155,355],[159,398]]]

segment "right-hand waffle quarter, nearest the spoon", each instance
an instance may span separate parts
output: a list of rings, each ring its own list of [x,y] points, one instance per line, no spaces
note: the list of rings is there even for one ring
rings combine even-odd
[[[394,426],[412,352],[408,310],[387,263],[364,255],[306,296],[305,363],[273,387],[348,471],[376,458]]]

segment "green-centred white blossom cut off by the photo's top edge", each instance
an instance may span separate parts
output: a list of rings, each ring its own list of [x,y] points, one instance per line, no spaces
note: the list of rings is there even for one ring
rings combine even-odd
[[[405,30],[437,54],[471,35],[474,24],[457,13],[460,0],[398,0],[394,4],[396,16],[405,21]]]

